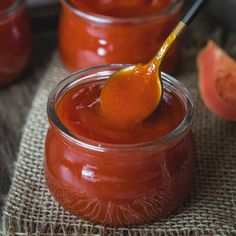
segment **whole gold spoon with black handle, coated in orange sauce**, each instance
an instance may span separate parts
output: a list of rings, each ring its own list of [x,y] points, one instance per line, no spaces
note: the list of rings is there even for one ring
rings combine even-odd
[[[147,64],[122,69],[106,81],[100,96],[101,114],[115,124],[142,122],[159,105],[162,94],[160,66],[170,47],[208,0],[196,0]]]

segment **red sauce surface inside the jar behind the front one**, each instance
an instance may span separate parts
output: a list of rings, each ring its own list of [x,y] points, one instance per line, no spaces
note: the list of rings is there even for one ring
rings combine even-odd
[[[81,10],[113,17],[137,17],[157,13],[173,0],[72,0]]]

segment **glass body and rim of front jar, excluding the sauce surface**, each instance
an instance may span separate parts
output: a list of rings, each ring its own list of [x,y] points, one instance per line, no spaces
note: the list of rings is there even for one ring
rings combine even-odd
[[[76,216],[110,226],[149,223],[174,211],[190,191],[195,160],[192,97],[164,73],[164,90],[180,99],[185,114],[182,123],[161,139],[108,144],[65,128],[55,108],[60,97],[78,84],[104,80],[121,68],[124,65],[98,66],[72,74],[51,92],[47,107],[49,190]]]

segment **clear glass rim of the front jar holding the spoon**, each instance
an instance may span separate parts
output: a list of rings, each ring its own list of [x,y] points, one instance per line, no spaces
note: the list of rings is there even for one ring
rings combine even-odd
[[[101,73],[101,76],[104,75],[105,71],[117,71],[119,69],[125,68],[131,66],[129,64],[111,64],[111,65],[102,65],[102,66],[95,66],[88,69],[80,70],[77,72],[72,73],[71,75],[67,76],[65,79],[63,79],[61,82],[59,82],[54,89],[51,91],[48,103],[47,103],[47,114],[49,118],[49,122],[51,125],[53,125],[57,131],[59,131],[63,136],[65,136],[67,139],[71,140],[73,143],[78,144],[79,146],[85,147],[90,150],[100,151],[104,152],[104,150],[117,150],[120,149],[122,151],[127,150],[134,150],[137,148],[152,148],[153,146],[162,145],[168,141],[172,141],[176,137],[180,136],[181,134],[185,133],[192,125],[193,121],[193,114],[194,114],[194,108],[193,108],[193,98],[191,93],[185,88],[185,86],[176,80],[174,77],[161,72],[162,78],[174,86],[176,91],[179,91],[181,95],[184,96],[187,100],[187,105],[185,107],[185,116],[182,120],[182,122],[176,127],[176,129],[172,130],[170,133],[166,134],[165,136],[143,142],[143,143],[137,143],[137,144],[111,144],[111,143],[105,143],[100,142],[96,140],[92,140],[80,135],[77,135],[70,130],[68,130],[63,123],[60,121],[57,113],[56,113],[56,102],[62,92],[66,89],[70,89],[73,87],[76,82],[83,80],[83,76],[86,77],[86,73],[91,72],[91,75],[96,75],[98,71]],[[87,76],[88,77],[88,76]]]

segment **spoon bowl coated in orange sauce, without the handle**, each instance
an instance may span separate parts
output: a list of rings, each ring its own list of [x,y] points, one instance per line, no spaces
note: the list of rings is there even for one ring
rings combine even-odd
[[[156,64],[137,64],[114,73],[101,92],[102,115],[124,127],[146,119],[161,101],[159,73]]]

